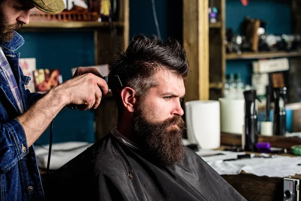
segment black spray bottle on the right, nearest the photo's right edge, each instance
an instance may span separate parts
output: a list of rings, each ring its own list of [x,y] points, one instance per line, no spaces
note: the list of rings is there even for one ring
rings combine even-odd
[[[286,132],[285,98],[286,87],[274,88],[273,134],[278,136],[284,136]]]

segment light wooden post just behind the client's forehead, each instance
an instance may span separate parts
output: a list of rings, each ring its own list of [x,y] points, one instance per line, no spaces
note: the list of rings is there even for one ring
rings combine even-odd
[[[209,99],[208,0],[191,0],[183,5],[183,44],[191,73],[185,102]]]

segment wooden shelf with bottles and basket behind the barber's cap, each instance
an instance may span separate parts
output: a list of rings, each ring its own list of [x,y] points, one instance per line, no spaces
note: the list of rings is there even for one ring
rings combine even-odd
[[[127,7],[128,1],[111,3],[108,0],[95,0],[67,1],[66,8],[58,14],[47,14],[34,8],[30,11],[31,22],[21,30],[124,27],[128,17]]]

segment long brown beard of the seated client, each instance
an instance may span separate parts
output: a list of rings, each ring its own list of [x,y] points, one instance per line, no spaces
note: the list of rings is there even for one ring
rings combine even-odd
[[[150,123],[145,119],[145,111],[133,114],[132,132],[142,142],[142,147],[161,165],[173,165],[183,160],[182,136],[185,124],[180,116],[160,123]],[[177,125],[178,127],[171,127]]]

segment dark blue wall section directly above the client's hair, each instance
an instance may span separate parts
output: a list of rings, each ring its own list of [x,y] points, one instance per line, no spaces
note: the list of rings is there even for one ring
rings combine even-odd
[[[155,0],[161,38],[168,37],[183,41],[183,0]],[[157,35],[152,9],[152,0],[129,1],[129,36],[143,33]]]

